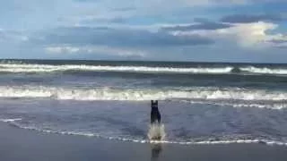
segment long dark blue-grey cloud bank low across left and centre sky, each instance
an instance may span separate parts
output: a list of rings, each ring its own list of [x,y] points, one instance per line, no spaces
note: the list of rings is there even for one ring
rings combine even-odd
[[[34,41],[46,44],[72,44],[77,46],[97,45],[109,47],[181,47],[210,45],[213,40],[199,35],[174,36],[166,32],[148,30],[74,27],[59,28],[47,33],[43,40]]]

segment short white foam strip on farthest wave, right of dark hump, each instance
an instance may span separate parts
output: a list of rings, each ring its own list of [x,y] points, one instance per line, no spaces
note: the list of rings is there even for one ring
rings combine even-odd
[[[265,73],[265,74],[287,74],[287,69],[284,68],[276,68],[276,69],[271,69],[271,68],[259,68],[259,67],[254,67],[254,66],[248,66],[248,67],[241,67],[241,71],[244,72],[254,72],[254,73]]]

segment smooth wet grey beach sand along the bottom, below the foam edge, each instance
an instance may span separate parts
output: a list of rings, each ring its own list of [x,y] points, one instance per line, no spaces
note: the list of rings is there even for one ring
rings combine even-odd
[[[44,133],[0,123],[0,160],[286,161],[287,147],[264,144],[155,145]]]

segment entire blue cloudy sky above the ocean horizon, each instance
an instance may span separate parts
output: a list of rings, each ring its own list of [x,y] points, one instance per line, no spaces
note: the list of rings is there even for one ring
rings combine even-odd
[[[0,0],[0,58],[287,63],[287,0]]]

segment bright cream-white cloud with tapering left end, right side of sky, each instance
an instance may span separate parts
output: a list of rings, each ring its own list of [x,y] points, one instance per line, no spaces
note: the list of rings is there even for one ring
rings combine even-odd
[[[283,39],[282,34],[268,34],[268,30],[275,30],[277,24],[271,22],[254,22],[254,23],[238,23],[233,27],[218,30],[190,30],[190,31],[172,31],[173,35],[200,35],[207,38],[213,38],[217,42],[230,43],[233,42],[240,47],[248,48],[264,48],[271,47],[270,43],[266,43],[273,39]],[[284,38],[286,39],[286,38]]]

